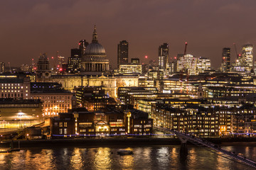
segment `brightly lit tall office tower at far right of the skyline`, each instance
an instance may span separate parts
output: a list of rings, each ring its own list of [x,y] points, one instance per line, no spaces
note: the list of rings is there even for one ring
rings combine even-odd
[[[242,57],[245,61],[245,67],[248,67],[248,69],[252,69],[253,66],[253,54],[252,54],[252,44],[247,44],[242,46]],[[249,70],[249,71],[250,71]]]

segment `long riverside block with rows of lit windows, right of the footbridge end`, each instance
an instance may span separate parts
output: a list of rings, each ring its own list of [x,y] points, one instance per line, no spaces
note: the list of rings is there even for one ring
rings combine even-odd
[[[229,134],[232,113],[230,108],[171,108],[158,104],[152,106],[154,125],[203,137]]]

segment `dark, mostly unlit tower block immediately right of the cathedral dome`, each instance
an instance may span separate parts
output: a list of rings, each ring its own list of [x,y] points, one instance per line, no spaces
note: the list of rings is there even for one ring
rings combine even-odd
[[[117,45],[117,65],[128,63],[128,45],[126,40],[122,40]]]

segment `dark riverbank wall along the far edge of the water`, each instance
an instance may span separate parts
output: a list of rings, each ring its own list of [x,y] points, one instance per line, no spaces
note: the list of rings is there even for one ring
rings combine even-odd
[[[225,142],[256,142],[256,137],[236,137],[236,138],[207,138],[210,142],[221,144]],[[18,142],[22,147],[83,147],[83,146],[151,146],[151,145],[180,145],[178,138],[158,138],[158,137],[119,137],[119,138],[77,138],[77,139],[55,139],[55,140],[14,140],[14,148],[18,147]],[[0,142],[1,145],[9,145],[11,140]]]

